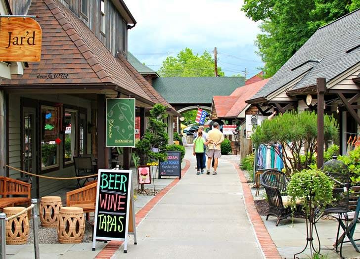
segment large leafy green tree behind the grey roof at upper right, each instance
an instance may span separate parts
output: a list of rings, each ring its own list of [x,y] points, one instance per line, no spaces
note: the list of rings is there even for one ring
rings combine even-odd
[[[320,26],[357,8],[360,0],[244,0],[242,10],[262,21],[255,44],[269,78]]]

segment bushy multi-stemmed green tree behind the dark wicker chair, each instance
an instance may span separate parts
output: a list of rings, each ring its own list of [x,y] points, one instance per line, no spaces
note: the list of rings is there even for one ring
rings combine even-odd
[[[338,136],[338,124],[329,115],[324,115],[324,140],[335,140]],[[265,120],[251,135],[256,147],[261,144],[271,146],[280,144],[288,152],[278,153],[288,174],[308,169],[314,162],[317,139],[317,114],[315,112],[294,111]],[[302,156],[303,150],[305,156]]]

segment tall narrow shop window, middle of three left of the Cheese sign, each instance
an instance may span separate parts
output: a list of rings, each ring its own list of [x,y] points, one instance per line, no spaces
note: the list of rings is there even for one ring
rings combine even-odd
[[[76,156],[76,116],[75,110],[65,109],[64,123],[64,161],[65,164],[73,162],[73,157]]]

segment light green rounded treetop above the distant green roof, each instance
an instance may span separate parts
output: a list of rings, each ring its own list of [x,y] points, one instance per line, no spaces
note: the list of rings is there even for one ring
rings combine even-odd
[[[185,48],[177,57],[167,57],[158,73],[162,77],[215,77],[215,63],[206,50],[200,56],[194,54],[190,48]],[[225,75],[219,66],[218,74]]]

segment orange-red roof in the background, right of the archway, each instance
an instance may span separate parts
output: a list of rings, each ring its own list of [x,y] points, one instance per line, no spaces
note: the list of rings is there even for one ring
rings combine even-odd
[[[236,118],[249,104],[245,101],[257,93],[269,79],[238,87],[230,96],[214,96],[214,109],[218,118]]]

